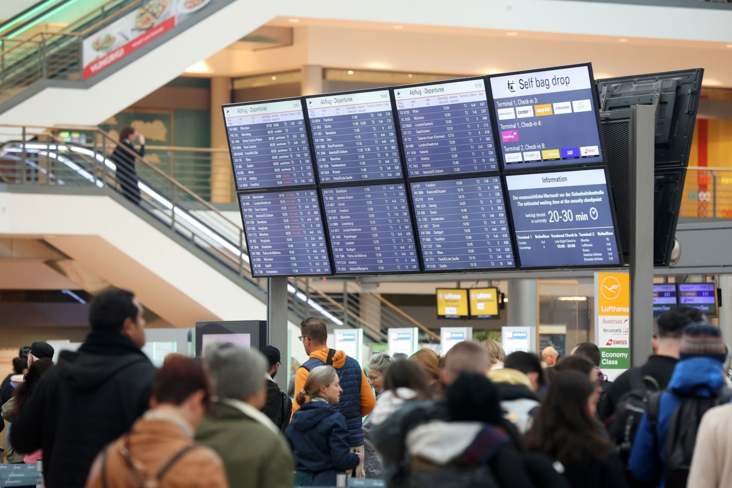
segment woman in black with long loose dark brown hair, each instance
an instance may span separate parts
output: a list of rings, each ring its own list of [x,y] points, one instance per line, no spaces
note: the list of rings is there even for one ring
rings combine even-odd
[[[526,448],[560,462],[572,488],[626,488],[615,446],[595,418],[598,397],[599,383],[586,374],[559,372],[526,432]]]

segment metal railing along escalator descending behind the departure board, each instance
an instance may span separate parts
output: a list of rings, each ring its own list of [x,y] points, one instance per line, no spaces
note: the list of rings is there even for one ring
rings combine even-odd
[[[59,132],[81,131],[86,145],[59,140]],[[0,125],[0,136],[20,134],[0,146],[0,181],[7,185],[51,185],[111,188],[138,204],[147,214],[201,252],[222,263],[256,290],[266,294],[266,280],[252,277],[244,231],[211,203],[157,168],[137,157],[101,129]],[[118,154],[114,154],[117,151]],[[137,178],[123,167],[120,154],[137,160]],[[124,158],[122,158],[124,159]],[[133,188],[133,189],[132,189]],[[288,306],[296,317],[321,315],[337,326],[363,327],[370,337],[385,339],[386,329],[419,327],[428,339],[438,339],[425,326],[386,301],[378,293],[360,293],[344,282],[343,293],[327,294],[311,279],[289,279]]]

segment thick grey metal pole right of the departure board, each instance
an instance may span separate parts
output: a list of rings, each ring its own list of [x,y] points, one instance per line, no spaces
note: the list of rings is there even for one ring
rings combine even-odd
[[[655,110],[633,105],[630,119],[630,364],[653,353],[653,188]]]

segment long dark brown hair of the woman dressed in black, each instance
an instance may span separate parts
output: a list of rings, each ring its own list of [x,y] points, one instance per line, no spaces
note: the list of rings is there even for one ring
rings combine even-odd
[[[614,446],[590,413],[588,402],[596,386],[587,374],[560,372],[553,378],[539,412],[526,435],[526,448],[562,464],[583,462],[591,456],[604,461]]]

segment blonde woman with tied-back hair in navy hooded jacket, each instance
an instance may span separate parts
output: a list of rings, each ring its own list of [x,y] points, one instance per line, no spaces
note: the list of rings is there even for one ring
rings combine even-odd
[[[335,368],[318,366],[297,394],[302,407],[285,430],[295,454],[297,486],[335,486],[337,473],[354,470],[361,462],[349,448],[346,417],[333,408],[341,393]]]

